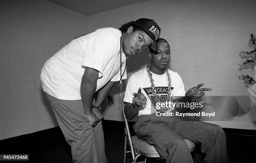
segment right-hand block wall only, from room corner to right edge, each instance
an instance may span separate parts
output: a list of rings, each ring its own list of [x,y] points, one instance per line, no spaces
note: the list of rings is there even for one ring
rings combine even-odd
[[[154,19],[161,27],[160,37],[168,40],[172,49],[169,67],[182,77],[186,91],[205,83],[213,89],[207,96],[247,96],[247,88],[238,80],[238,64],[242,62],[238,55],[251,50],[248,39],[251,32],[256,34],[255,7],[255,0],[147,0],[89,16],[88,30],[118,28],[140,17]],[[150,62],[147,54],[128,59],[128,77]],[[255,75],[250,70],[246,73]],[[118,92],[116,84],[111,91],[115,106],[106,106],[105,119],[123,120]],[[255,107],[245,112],[230,122],[212,123],[256,129]]]

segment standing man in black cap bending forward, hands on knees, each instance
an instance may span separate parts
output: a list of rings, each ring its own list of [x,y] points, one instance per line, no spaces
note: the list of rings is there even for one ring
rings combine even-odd
[[[154,20],[141,18],[119,29],[101,28],[77,37],[41,71],[43,91],[71,146],[72,163],[107,162],[100,104],[114,81],[126,79],[127,56],[147,47],[156,49],[160,27]]]

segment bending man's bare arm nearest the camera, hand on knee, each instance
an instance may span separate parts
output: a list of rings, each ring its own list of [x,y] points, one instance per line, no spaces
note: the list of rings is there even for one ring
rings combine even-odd
[[[90,120],[89,123],[91,126],[95,126],[98,121],[97,116],[92,112],[92,100],[97,87],[97,79],[98,71],[90,67],[85,67],[80,86],[80,93],[84,111],[87,118]]]

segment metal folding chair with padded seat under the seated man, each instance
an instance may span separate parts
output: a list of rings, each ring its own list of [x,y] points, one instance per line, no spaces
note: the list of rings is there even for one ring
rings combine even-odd
[[[123,117],[125,121],[125,144],[124,144],[124,157],[123,162],[126,163],[126,154],[131,153],[132,162],[131,163],[146,163],[147,158],[156,158],[161,159],[162,157],[156,151],[156,148],[152,145],[149,145],[146,141],[138,138],[137,136],[131,136],[130,129],[128,126],[128,121],[125,117],[124,113],[124,103],[123,103],[124,96],[122,98],[121,107],[123,109]],[[195,144],[189,141],[188,139],[183,138],[184,141],[187,143],[189,151],[192,152],[195,150]],[[130,148],[130,151],[127,151],[127,144]],[[145,161],[137,162],[138,157],[144,156]]]

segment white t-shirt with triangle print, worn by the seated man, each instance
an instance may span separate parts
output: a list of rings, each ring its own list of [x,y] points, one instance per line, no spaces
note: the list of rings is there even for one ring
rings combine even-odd
[[[156,88],[157,102],[166,102],[168,95],[168,79],[166,73],[161,75],[154,74],[153,72],[151,73]],[[184,84],[179,74],[171,70],[169,70],[169,74],[172,84],[171,96],[185,96],[186,92],[184,90]],[[137,93],[139,87],[141,87],[141,93],[146,96],[147,102],[146,106],[143,107],[144,109],[140,109],[138,115],[146,115],[156,112],[156,108],[152,103],[152,88],[146,68],[132,74],[129,78],[125,90],[124,102],[132,103],[134,97],[133,93]]]

